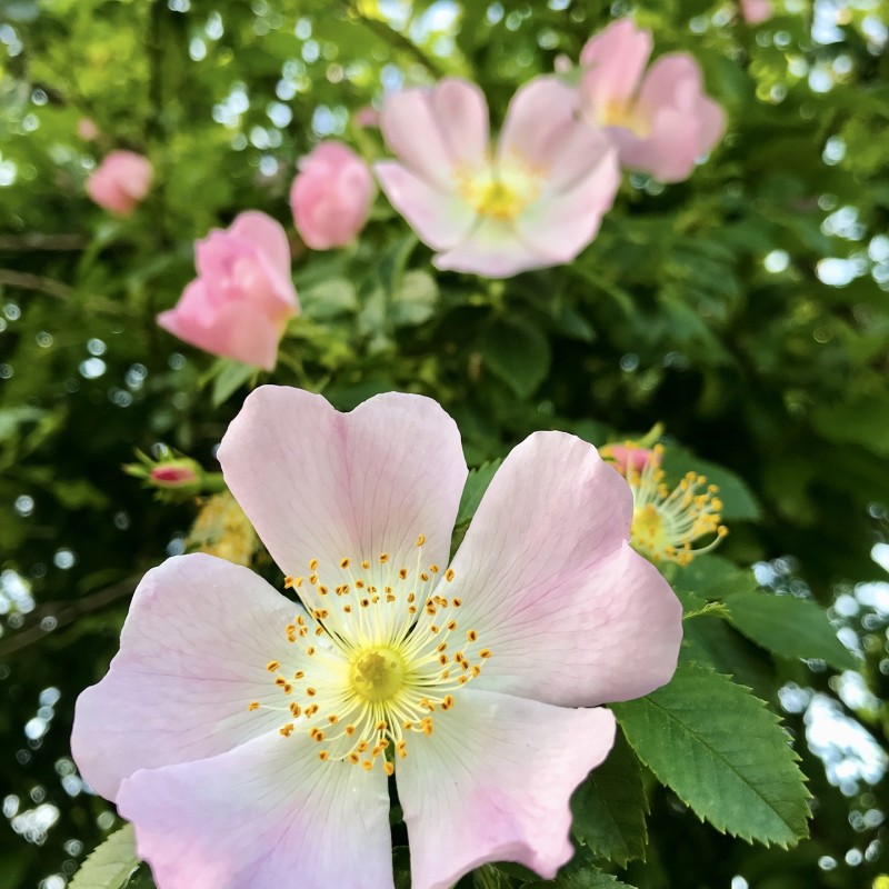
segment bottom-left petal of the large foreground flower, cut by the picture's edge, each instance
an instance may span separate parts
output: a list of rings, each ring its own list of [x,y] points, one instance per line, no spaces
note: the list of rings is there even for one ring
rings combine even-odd
[[[163,889],[391,889],[382,769],[321,762],[277,731],[126,780],[120,813]]]

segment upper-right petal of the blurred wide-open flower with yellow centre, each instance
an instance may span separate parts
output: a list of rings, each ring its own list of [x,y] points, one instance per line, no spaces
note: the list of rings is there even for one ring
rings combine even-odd
[[[555,77],[537,77],[519,88],[500,132],[498,162],[515,158],[541,172],[553,167],[578,128],[576,103],[575,91]]]

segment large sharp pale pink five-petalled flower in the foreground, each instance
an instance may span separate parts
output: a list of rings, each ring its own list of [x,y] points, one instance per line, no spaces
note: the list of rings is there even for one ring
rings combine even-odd
[[[503,859],[552,878],[571,792],[613,740],[600,705],[669,681],[679,652],[623,479],[573,436],[532,434],[449,568],[467,467],[428,398],[343,414],[260,387],[219,459],[300,603],[169,559],[74,717],[78,767],[159,889],[392,889],[392,773],[413,889]]]

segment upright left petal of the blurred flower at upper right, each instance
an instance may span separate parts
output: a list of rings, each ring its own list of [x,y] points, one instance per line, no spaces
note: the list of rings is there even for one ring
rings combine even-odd
[[[591,37],[580,52],[580,64],[589,69],[583,78],[587,99],[596,106],[625,104],[639,86],[648,57],[651,32],[630,19],[612,22]]]

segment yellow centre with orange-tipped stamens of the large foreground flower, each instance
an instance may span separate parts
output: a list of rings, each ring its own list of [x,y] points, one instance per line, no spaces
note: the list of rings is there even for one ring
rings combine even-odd
[[[412,568],[389,553],[308,563],[288,577],[302,608],[284,627],[280,652],[266,663],[272,687],[248,710],[277,710],[279,732],[306,733],[318,758],[392,775],[414,738],[430,736],[491,651],[463,627],[455,572],[424,565],[417,538]],[[444,592],[448,595],[446,596]]]

